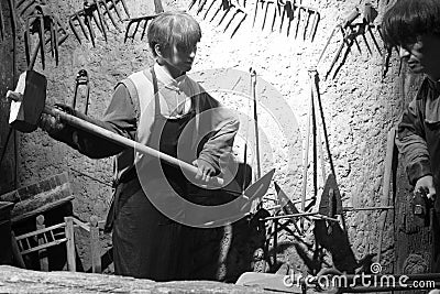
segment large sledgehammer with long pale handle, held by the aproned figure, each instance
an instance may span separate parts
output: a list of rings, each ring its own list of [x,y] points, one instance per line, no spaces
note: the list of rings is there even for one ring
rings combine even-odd
[[[7,98],[11,100],[9,123],[12,128],[21,132],[32,132],[36,130],[41,115],[47,113],[54,117],[59,117],[63,122],[72,127],[87,131],[95,135],[99,135],[119,145],[135,149],[142,154],[147,154],[164,160],[174,166],[180,167],[183,171],[188,172],[191,175],[197,174],[198,168],[189,163],[113,133],[107,129],[68,115],[62,110],[46,106],[46,77],[34,70],[28,70],[20,76],[15,91],[9,90],[7,94]],[[211,177],[209,181],[209,185],[212,187],[224,187],[228,183],[224,183],[223,178],[221,177]],[[233,181],[230,184],[234,184]],[[230,186],[228,185],[228,188]],[[240,188],[231,188],[237,192],[240,190]]]

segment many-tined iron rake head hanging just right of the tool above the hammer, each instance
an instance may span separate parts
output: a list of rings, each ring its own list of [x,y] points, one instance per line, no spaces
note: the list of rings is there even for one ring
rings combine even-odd
[[[84,1],[84,7],[81,10],[76,11],[74,14],[69,17],[69,26],[81,44],[81,39],[79,37],[78,29],[82,32],[85,39],[87,41],[91,41],[91,44],[96,45],[96,33],[94,30],[92,23],[98,28],[107,42],[107,33],[110,29],[106,18],[110,19],[110,22],[113,26],[121,32],[121,29],[118,25],[118,21],[116,20],[113,12],[117,14],[119,21],[124,21],[125,18],[122,15],[121,9],[119,4],[122,6],[123,11],[125,12],[127,18],[130,18],[130,12],[128,10],[125,0],[86,0]],[[94,20],[94,21],[92,21]],[[89,39],[90,36],[90,39]]]

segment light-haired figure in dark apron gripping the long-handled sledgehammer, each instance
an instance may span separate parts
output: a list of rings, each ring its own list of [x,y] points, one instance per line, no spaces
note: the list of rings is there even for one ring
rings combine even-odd
[[[155,64],[117,85],[101,121],[82,117],[194,164],[196,177],[204,183],[220,172],[219,162],[231,152],[239,122],[186,75],[200,37],[200,26],[189,14],[158,15],[147,30]],[[117,274],[155,281],[197,279],[188,276],[184,264],[190,253],[182,252],[188,239],[183,236],[186,226],[175,221],[185,215],[175,199],[188,197],[191,186],[179,168],[73,129],[54,117],[44,117],[41,124],[53,138],[89,157],[117,155],[112,221],[108,221],[112,222]],[[157,209],[161,205],[165,214]]]

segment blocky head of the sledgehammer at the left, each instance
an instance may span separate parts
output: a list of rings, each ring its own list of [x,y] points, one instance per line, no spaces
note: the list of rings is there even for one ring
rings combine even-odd
[[[20,132],[32,132],[38,127],[46,101],[47,79],[45,76],[26,70],[20,75],[15,92],[23,95],[22,101],[12,101],[9,124]]]

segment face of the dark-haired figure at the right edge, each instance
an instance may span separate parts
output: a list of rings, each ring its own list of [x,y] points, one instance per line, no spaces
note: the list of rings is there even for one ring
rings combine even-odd
[[[399,47],[400,58],[407,62],[415,74],[427,74],[440,79],[440,37],[426,34],[416,43]]]

